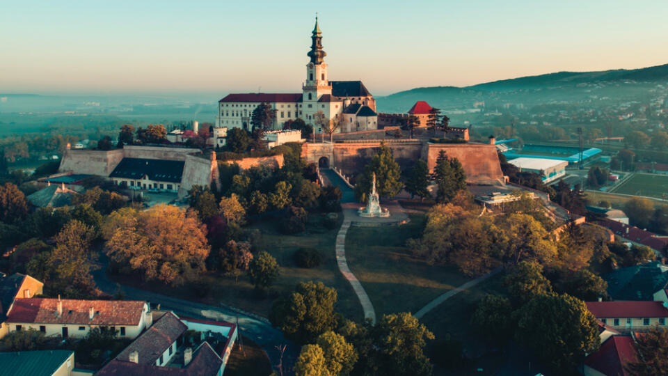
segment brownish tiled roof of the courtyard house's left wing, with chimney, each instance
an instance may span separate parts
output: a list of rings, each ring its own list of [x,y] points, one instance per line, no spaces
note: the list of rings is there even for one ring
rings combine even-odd
[[[141,336],[125,347],[125,350],[118,354],[116,359],[129,361],[130,353],[136,351],[139,355],[139,363],[153,364],[186,330],[188,330],[186,324],[181,322],[174,313],[165,313]]]

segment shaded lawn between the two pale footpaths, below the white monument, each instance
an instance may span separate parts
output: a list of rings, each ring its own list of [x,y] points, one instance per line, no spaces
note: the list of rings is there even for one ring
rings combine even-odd
[[[351,227],[346,258],[364,286],[376,315],[415,313],[438,295],[468,281],[456,267],[429,265],[411,255],[406,240],[420,237],[425,217],[411,214],[399,227]]]

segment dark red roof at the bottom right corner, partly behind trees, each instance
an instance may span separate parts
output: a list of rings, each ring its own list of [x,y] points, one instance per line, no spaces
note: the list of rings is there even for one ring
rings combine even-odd
[[[601,348],[584,359],[584,364],[604,375],[629,375],[628,363],[638,360],[638,355],[630,336],[612,336]]]

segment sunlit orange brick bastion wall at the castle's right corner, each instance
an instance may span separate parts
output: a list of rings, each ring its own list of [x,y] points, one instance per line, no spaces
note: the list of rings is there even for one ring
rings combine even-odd
[[[445,150],[448,157],[459,159],[468,183],[503,184],[496,146],[486,143],[427,143],[422,150],[422,159],[427,161],[429,171],[434,171],[440,150]]]

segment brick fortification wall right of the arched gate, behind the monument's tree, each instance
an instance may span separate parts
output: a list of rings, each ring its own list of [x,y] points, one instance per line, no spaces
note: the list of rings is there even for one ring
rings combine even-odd
[[[392,149],[392,155],[401,169],[410,168],[422,155],[422,142],[417,140],[386,140],[385,145]],[[355,176],[363,171],[380,146],[379,140],[335,143],[333,165],[345,175]]]

